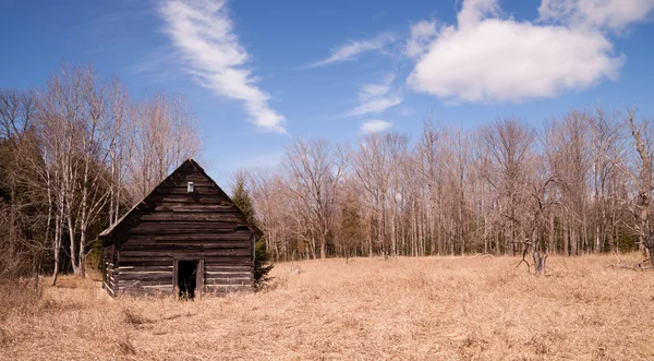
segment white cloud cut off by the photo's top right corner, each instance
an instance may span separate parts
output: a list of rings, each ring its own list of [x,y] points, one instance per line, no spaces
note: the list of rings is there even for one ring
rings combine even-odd
[[[654,0],[543,0],[538,13],[546,21],[620,31],[646,20],[652,10]]]

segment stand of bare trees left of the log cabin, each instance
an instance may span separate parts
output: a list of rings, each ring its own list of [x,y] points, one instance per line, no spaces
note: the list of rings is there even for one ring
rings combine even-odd
[[[84,276],[97,234],[198,147],[183,96],[135,99],[92,65],[0,89],[0,277]]]

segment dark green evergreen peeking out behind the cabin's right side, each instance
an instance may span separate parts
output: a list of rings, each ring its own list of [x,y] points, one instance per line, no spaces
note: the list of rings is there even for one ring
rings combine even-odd
[[[241,212],[243,212],[247,221],[258,227],[254,206],[252,205],[252,198],[250,197],[250,192],[245,188],[245,177],[242,172],[238,172],[235,176],[232,202],[234,202]],[[264,237],[261,237],[255,243],[254,253],[254,289],[256,291],[262,290],[271,279],[271,277],[268,276],[268,273],[270,273],[275,265],[268,261],[269,257],[266,250],[266,242]]]

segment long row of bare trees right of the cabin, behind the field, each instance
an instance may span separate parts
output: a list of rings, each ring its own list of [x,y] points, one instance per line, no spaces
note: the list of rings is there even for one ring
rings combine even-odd
[[[469,131],[429,117],[414,141],[296,139],[278,167],[235,178],[276,260],[644,251],[653,142],[633,109]]]

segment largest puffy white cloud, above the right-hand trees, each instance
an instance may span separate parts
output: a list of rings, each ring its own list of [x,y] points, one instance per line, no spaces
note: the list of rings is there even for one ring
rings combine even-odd
[[[558,0],[555,0],[558,1]],[[464,0],[408,84],[453,101],[522,101],[615,80],[625,62],[598,29],[501,19],[496,0]]]

